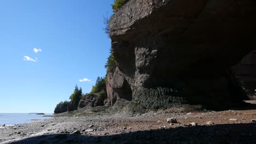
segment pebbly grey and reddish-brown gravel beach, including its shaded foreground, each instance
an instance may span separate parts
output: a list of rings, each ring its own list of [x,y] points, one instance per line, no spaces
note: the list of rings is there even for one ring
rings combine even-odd
[[[0,143],[256,143],[256,110],[182,111],[62,113],[1,125]]]

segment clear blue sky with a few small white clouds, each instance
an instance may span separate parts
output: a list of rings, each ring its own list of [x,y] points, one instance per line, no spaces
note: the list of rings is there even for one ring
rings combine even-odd
[[[112,15],[111,4],[0,1],[0,113],[53,113],[76,84],[90,92],[106,74],[110,39],[103,16]]]

